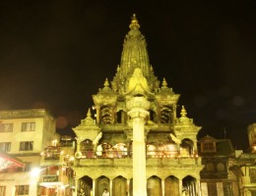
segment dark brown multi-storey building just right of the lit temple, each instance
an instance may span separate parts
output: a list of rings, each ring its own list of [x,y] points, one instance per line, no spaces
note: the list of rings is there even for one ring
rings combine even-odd
[[[199,140],[198,152],[205,166],[200,173],[202,195],[238,196],[238,180],[229,170],[235,163],[231,141],[207,135]]]

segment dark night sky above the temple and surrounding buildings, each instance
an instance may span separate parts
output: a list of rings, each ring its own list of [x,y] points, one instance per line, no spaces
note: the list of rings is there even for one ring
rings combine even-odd
[[[112,80],[136,13],[160,81],[199,137],[248,148],[256,123],[256,1],[1,1],[0,110],[48,108],[66,131]],[[178,108],[178,114],[180,107]]]

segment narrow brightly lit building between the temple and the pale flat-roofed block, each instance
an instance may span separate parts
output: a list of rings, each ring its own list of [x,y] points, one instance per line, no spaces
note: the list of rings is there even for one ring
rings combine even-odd
[[[56,145],[47,146],[41,153],[40,177],[37,194],[40,196],[71,196],[74,193],[74,162],[75,141],[63,135]]]

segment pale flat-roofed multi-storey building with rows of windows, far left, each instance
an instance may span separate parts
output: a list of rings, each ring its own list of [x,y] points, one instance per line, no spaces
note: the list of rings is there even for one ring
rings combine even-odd
[[[40,154],[54,145],[55,120],[46,110],[36,109],[0,111],[0,121],[0,150],[24,164],[0,172],[1,195],[35,196],[42,171]]]

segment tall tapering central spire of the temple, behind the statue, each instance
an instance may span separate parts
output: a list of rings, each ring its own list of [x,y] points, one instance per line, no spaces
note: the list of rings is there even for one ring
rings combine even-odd
[[[111,82],[112,88],[121,94],[126,92],[127,80],[132,76],[134,70],[139,68],[147,78],[151,90],[154,91],[159,88],[160,81],[150,65],[146,39],[139,30],[140,25],[135,14],[132,16],[129,27],[130,30],[124,38],[120,66]]]

